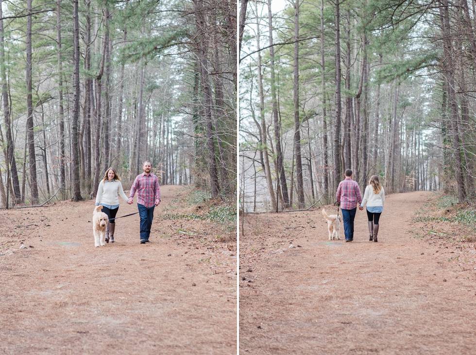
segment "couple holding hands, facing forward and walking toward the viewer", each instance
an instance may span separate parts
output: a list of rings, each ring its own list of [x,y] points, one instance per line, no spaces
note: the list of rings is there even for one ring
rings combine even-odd
[[[107,169],[102,178],[96,195],[96,206],[102,205],[102,212],[107,214],[109,223],[106,227],[106,243],[114,243],[114,232],[116,231],[116,214],[119,210],[120,196],[127,204],[132,205],[134,195],[137,192],[137,209],[140,216],[140,243],[149,242],[151,235],[153,211],[160,203],[160,186],[155,175],[151,173],[152,164],[144,161],[142,164],[142,174],[137,175],[131,187],[129,198],[124,194],[120,178],[112,168]]]

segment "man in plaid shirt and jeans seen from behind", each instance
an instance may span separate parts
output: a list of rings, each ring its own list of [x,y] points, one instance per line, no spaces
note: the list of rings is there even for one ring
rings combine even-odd
[[[347,169],[345,179],[340,181],[337,188],[336,201],[340,204],[340,210],[342,211],[345,242],[354,240],[354,219],[356,218],[357,205],[360,206],[362,202],[362,194],[357,181],[352,180],[352,175],[352,170]]]

